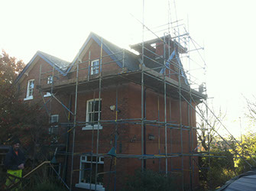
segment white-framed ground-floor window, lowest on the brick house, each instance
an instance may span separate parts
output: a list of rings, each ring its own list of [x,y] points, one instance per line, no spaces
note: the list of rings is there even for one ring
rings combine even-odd
[[[95,190],[95,176],[96,176],[96,156],[81,156],[80,157],[80,172],[79,172],[79,183],[76,187],[90,189],[90,179],[91,189]],[[92,168],[91,168],[92,167]],[[98,170],[97,173],[104,172],[104,157],[98,157]],[[92,173],[92,176],[91,176]],[[96,190],[105,190],[103,187],[104,174],[99,174],[97,176]]]

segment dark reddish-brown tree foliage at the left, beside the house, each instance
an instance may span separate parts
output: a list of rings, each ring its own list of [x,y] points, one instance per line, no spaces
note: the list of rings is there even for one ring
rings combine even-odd
[[[43,145],[49,144],[48,119],[37,104],[24,103],[18,99],[15,78],[24,67],[22,60],[16,61],[2,50],[0,54],[0,144],[11,144],[12,138],[19,138],[25,154],[32,161],[45,160]],[[38,161],[41,162],[41,161]]]

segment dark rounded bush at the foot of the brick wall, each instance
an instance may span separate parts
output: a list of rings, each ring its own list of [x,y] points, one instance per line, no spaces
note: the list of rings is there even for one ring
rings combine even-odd
[[[145,190],[145,191],[163,191],[163,190],[178,190],[177,184],[173,178],[164,176],[152,170],[137,170],[134,176],[129,176],[123,190]]]

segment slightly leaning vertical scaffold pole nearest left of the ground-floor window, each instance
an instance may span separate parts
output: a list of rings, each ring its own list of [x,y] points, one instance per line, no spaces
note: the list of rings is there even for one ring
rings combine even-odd
[[[71,174],[70,174],[70,191],[72,190],[72,179],[73,179],[73,163],[74,163],[74,150],[75,150],[75,138],[76,138],[76,110],[77,110],[77,90],[78,90],[78,72],[79,72],[79,61],[76,63],[76,99],[75,99],[75,112],[74,112],[74,123],[73,123],[73,145],[72,145],[72,157],[71,157]]]

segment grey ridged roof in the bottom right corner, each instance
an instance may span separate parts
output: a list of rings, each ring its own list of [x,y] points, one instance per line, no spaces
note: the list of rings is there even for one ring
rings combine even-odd
[[[256,188],[256,171],[251,170],[228,180],[218,191],[251,191]]]

